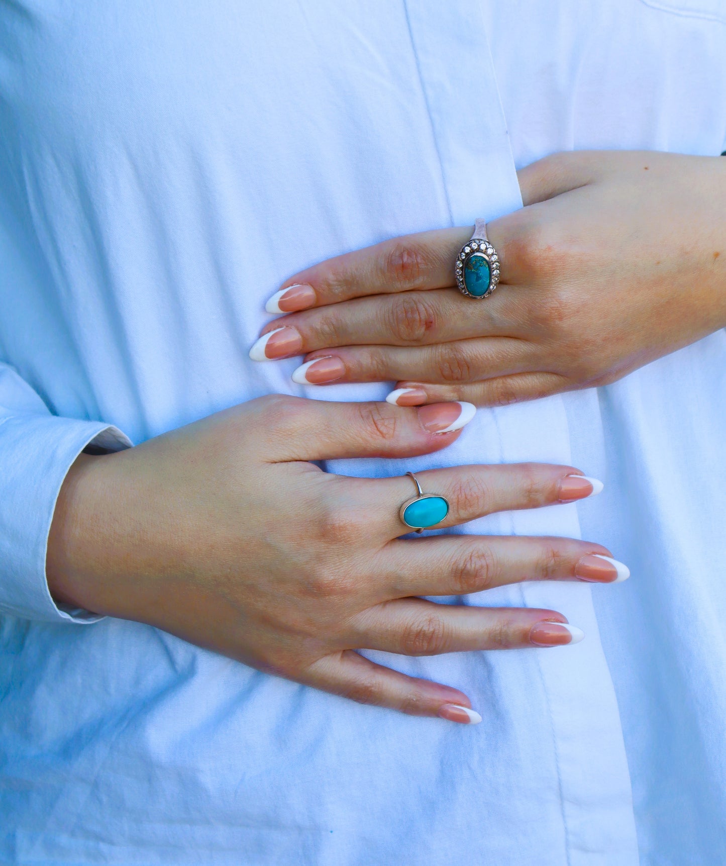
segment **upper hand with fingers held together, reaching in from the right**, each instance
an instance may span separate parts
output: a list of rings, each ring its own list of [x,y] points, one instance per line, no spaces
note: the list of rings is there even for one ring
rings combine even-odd
[[[268,309],[309,308],[251,356],[306,353],[294,378],[316,385],[395,380],[399,405],[493,405],[607,385],[726,325],[726,159],[560,153],[519,182],[524,209],[488,226],[490,297],[453,288],[471,227],[395,238],[287,281]]]

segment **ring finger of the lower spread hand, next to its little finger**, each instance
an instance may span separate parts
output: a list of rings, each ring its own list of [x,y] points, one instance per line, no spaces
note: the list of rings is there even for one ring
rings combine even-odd
[[[358,614],[351,627],[350,640],[360,649],[404,656],[560,646],[584,637],[556,611],[464,607],[423,598],[378,604]]]

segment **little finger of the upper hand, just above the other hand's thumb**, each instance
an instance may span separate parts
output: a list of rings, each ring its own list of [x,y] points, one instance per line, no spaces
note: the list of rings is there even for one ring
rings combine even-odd
[[[450,400],[462,400],[475,406],[506,406],[571,391],[573,387],[568,378],[549,372],[495,376],[461,385],[432,385],[415,379],[404,379],[396,382],[394,390],[386,399],[398,406],[421,406],[427,403],[446,403]]]

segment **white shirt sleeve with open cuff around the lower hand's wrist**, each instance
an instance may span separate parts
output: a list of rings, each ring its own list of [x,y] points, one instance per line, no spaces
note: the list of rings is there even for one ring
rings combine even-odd
[[[102,618],[51,598],[48,532],[61,484],[80,452],[131,445],[110,424],[52,415],[28,383],[0,363],[0,611],[55,623]]]

